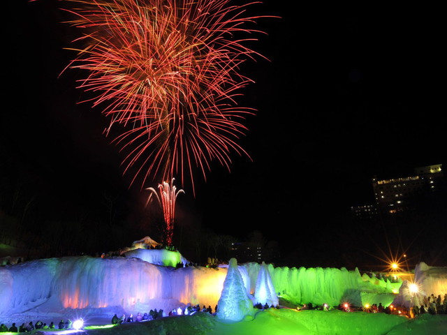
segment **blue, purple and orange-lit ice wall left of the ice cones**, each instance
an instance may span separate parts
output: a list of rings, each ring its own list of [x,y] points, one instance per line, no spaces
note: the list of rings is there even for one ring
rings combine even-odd
[[[89,256],[34,260],[0,268],[0,314],[47,308],[128,313],[179,304],[215,306],[226,269],[163,267],[138,258]],[[45,305],[46,304],[46,305]]]

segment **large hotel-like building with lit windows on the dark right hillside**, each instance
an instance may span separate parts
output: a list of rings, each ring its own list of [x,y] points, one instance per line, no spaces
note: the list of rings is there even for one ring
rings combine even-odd
[[[444,188],[442,165],[414,169],[409,177],[372,179],[376,207],[382,213],[394,214],[418,206],[418,199]]]

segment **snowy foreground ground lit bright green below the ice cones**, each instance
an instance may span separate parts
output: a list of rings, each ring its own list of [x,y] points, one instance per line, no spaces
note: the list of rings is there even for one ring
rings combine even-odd
[[[99,320],[99,319],[98,319]],[[89,320],[94,323],[94,319]],[[88,328],[88,327],[87,327]],[[73,334],[46,331],[37,334]],[[424,314],[415,319],[385,313],[295,311],[269,308],[240,322],[223,322],[209,313],[169,316],[112,328],[83,329],[89,335],[445,335],[447,315]]]

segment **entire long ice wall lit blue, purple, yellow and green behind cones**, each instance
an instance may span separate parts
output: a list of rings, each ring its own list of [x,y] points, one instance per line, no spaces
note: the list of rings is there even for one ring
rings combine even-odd
[[[134,314],[153,308],[170,311],[182,304],[214,307],[221,297],[223,282],[231,267],[166,267],[163,265],[176,265],[179,259],[184,259],[179,253],[166,252],[139,249],[126,258],[50,258],[0,267],[0,314],[24,313],[36,306],[39,311],[43,308],[60,311],[63,308],[118,306]],[[235,267],[233,263],[235,260],[230,264]],[[276,292],[297,303],[335,306],[348,300],[356,306],[364,302],[382,302],[383,306],[388,306],[394,298],[393,290],[397,292],[402,285],[360,276],[358,270],[275,268],[246,263],[237,266],[237,278],[242,278],[242,285],[237,285],[237,288],[244,292],[242,295],[237,291],[238,297],[245,298],[250,292],[255,292],[262,267],[268,269]],[[231,272],[233,275],[228,277],[228,281],[235,283],[236,271],[232,269]],[[434,275],[428,276],[429,271],[424,274],[427,290],[434,290]],[[441,280],[441,277],[437,278]]]

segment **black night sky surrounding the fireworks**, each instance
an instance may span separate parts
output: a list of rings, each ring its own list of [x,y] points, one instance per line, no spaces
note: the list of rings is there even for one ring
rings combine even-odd
[[[374,175],[401,177],[447,163],[439,8],[301,2],[252,6],[255,14],[281,18],[258,20],[266,34],[253,47],[269,60],[241,69],[254,84],[240,105],[258,111],[241,140],[251,159],[233,153],[231,172],[216,163],[206,182],[197,175],[195,197],[184,188],[177,217],[185,229],[200,223],[240,239],[257,229],[298,248],[330,241],[352,205],[374,203]],[[122,222],[141,228],[147,191],[129,187],[131,176],[122,175],[122,156],[102,133],[108,120],[101,110],[78,104],[75,80],[82,75],[60,75],[74,56],[64,47],[78,33],[61,23],[62,3],[8,3],[3,211],[22,183],[48,215],[99,212],[113,199]],[[365,238],[343,229],[346,243]]]

